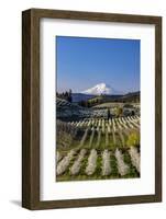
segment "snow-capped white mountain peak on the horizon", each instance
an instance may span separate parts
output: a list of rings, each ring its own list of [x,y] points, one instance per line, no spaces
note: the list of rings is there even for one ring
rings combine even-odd
[[[92,94],[92,95],[100,95],[100,94],[107,94],[107,95],[114,95],[119,94],[118,91],[115,91],[113,88],[106,83],[99,83],[91,89],[88,89],[86,91],[82,91],[84,94]]]

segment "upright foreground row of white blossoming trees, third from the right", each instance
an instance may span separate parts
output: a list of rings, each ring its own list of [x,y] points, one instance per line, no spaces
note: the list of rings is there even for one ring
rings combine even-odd
[[[102,175],[110,175],[111,165],[110,165],[110,151],[104,150],[102,153]]]

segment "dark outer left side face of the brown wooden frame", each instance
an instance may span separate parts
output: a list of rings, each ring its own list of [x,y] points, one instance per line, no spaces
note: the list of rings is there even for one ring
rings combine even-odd
[[[22,207],[31,209],[31,10],[22,12]]]

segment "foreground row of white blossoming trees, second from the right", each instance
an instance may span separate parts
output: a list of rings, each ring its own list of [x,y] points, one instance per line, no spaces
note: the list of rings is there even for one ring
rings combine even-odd
[[[118,171],[119,171],[120,175],[123,176],[123,175],[128,174],[129,165],[126,165],[126,163],[124,163],[123,154],[121,153],[121,151],[119,149],[115,149],[114,155],[117,159]]]

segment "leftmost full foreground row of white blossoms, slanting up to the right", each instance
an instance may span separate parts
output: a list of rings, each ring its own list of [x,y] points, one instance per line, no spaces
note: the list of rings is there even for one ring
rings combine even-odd
[[[75,154],[75,150],[70,150],[68,152],[68,154],[62,161],[59,161],[59,163],[57,164],[57,169],[56,169],[57,175],[60,175],[66,171],[71,159],[74,158],[74,154]]]

